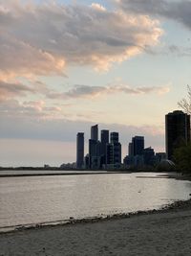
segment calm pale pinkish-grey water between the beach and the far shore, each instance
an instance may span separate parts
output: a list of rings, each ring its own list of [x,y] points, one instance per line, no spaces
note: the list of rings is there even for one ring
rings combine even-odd
[[[0,231],[71,217],[82,219],[159,209],[174,200],[189,198],[191,182],[155,178],[156,175],[1,177]]]

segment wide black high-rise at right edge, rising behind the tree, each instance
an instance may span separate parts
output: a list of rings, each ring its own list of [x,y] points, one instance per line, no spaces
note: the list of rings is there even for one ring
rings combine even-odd
[[[190,142],[190,115],[176,110],[165,116],[166,153],[173,158],[173,151],[182,144]]]

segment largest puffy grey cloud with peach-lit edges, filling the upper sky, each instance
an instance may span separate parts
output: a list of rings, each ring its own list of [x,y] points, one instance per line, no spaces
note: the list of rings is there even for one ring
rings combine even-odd
[[[64,75],[67,65],[107,70],[156,45],[159,21],[145,15],[57,2],[0,1],[0,79]]]

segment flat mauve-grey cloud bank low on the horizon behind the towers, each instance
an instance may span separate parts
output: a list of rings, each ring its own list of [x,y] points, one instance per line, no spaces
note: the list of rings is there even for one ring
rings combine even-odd
[[[3,120],[4,121],[4,120]],[[16,121],[16,122],[15,122]],[[0,157],[2,166],[43,166],[45,163],[59,166],[63,162],[75,161],[76,133],[85,132],[85,153],[88,151],[90,122],[59,120],[50,122],[30,122],[30,120],[6,119],[0,123]],[[99,125],[99,130],[108,128],[119,132],[122,144],[122,158],[127,154],[127,146],[132,136],[144,135],[145,147],[156,151],[164,150],[164,134],[157,127],[129,127]],[[100,134],[100,133],[99,133]],[[7,139],[9,137],[9,139]]]

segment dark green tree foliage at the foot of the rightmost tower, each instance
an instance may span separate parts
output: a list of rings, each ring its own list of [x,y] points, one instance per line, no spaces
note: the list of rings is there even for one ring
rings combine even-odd
[[[178,171],[191,174],[191,144],[174,151],[174,161]]]

